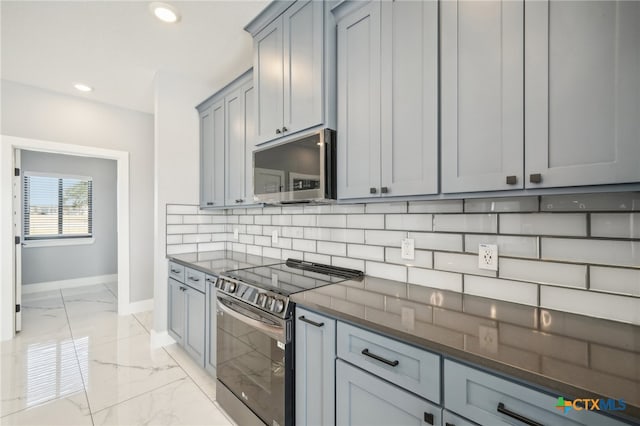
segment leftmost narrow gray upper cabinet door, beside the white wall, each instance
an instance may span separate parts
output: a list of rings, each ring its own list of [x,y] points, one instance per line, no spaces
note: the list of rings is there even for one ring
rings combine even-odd
[[[200,119],[200,207],[224,206],[224,99],[198,106]]]

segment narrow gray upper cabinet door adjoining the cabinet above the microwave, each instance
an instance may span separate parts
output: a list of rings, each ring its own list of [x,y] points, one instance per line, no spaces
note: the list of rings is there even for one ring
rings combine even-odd
[[[226,205],[253,203],[253,170],[251,155],[254,147],[253,82],[245,84],[225,96],[227,159]]]

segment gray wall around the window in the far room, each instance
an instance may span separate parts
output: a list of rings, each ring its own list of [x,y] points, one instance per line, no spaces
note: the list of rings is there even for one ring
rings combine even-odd
[[[93,178],[93,235],[88,245],[25,247],[24,285],[116,274],[116,161],[45,152],[22,151],[24,172],[56,173]]]

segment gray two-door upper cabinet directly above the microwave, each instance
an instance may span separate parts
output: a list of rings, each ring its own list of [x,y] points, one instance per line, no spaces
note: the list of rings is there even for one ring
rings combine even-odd
[[[274,1],[245,28],[254,37],[257,143],[333,124],[331,23],[323,1]]]

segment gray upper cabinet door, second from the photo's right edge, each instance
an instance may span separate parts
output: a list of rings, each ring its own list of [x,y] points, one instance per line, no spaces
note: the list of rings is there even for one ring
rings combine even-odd
[[[522,188],[523,1],[445,1],[440,13],[442,191]]]

